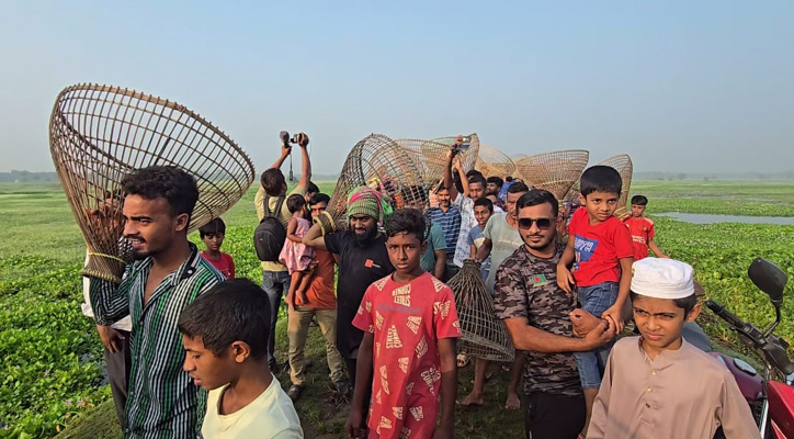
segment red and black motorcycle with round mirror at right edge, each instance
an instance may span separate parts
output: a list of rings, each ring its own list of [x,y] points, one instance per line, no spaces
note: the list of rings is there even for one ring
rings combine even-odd
[[[748,349],[758,354],[764,364],[762,373],[747,362],[723,353],[711,352],[736,378],[739,390],[747,399],[763,439],[794,439],[794,362],[789,359],[789,344],[774,335],[781,322],[783,290],[787,277],[774,263],[757,258],[748,269],[748,275],[759,290],[769,295],[775,309],[775,322],[761,330],[751,323],[742,322],[725,306],[706,301],[705,306],[730,325],[730,330]],[[721,431],[715,438],[721,438]]]

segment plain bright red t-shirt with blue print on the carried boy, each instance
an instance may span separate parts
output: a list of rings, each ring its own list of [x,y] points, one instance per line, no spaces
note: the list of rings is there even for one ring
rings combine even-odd
[[[620,219],[612,216],[593,226],[587,209],[577,209],[568,233],[574,236],[576,262],[572,272],[578,286],[620,282],[620,259],[634,256],[632,236]]]

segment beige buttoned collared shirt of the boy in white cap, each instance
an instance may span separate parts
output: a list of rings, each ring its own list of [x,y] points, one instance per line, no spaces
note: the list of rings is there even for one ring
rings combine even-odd
[[[588,439],[760,438],[734,375],[685,340],[650,359],[639,337],[617,341],[596,398]]]

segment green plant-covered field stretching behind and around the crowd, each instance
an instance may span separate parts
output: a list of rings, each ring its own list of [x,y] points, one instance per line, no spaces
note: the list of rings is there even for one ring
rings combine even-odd
[[[330,193],[332,182],[320,183]],[[704,201],[727,214],[794,215],[794,184],[710,182],[636,182],[634,193],[649,196],[649,212],[704,213]],[[261,270],[250,245],[256,214],[254,190],[224,215],[228,224],[224,249],[239,275],[259,281]],[[726,204],[733,200],[735,204]],[[770,212],[764,212],[768,210]],[[773,212],[772,212],[773,211]],[[757,212],[757,213],[752,213]],[[84,257],[80,232],[63,192],[53,184],[0,183],[0,218],[5,245],[0,249],[0,438],[117,438],[110,391],[103,385],[101,344],[93,324],[80,314],[77,272]],[[763,293],[747,279],[757,256],[782,267],[794,279],[794,227],[746,224],[691,225],[655,217],[660,247],[692,263],[710,297],[739,317],[759,325],[773,318]],[[197,236],[192,239],[197,241]],[[794,283],[794,282],[793,282]],[[794,315],[792,286],[786,290],[785,318]],[[702,318],[711,336],[735,340],[708,312]],[[277,328],[277,356],[286,359],[286,327]],[[794,340],[794,323],[779,334]],[[325,364],[319,329],[311,328],[309,387],[297,403],[307,438],[339,438],[347,416],[334,397]],[[288,373],[279,379],[288,385]],[[470,367],[461,371],[458,395],[470,391]],[[486,386],[486,407],[458,409],[460,437],[515,437],[523,430],[518,413],[504,412],[507,373],[498,371]]]

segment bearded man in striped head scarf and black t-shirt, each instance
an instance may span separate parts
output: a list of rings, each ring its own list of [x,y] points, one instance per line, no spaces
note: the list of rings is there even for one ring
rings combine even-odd
[[[378,229],[378,224],[389,213],[390,206],[381,192],[361,187],[348,196],[347,230],[330,233],[316,221],[304,237],[305,245],[339,255],[337,349],[344,358],[353,383],[355,359],[364,337],[364,333],[353,326],[353,317],[370,284],[394,272],[386,251],[386,236]],[[327,213],[326,216],[330,217]]]

